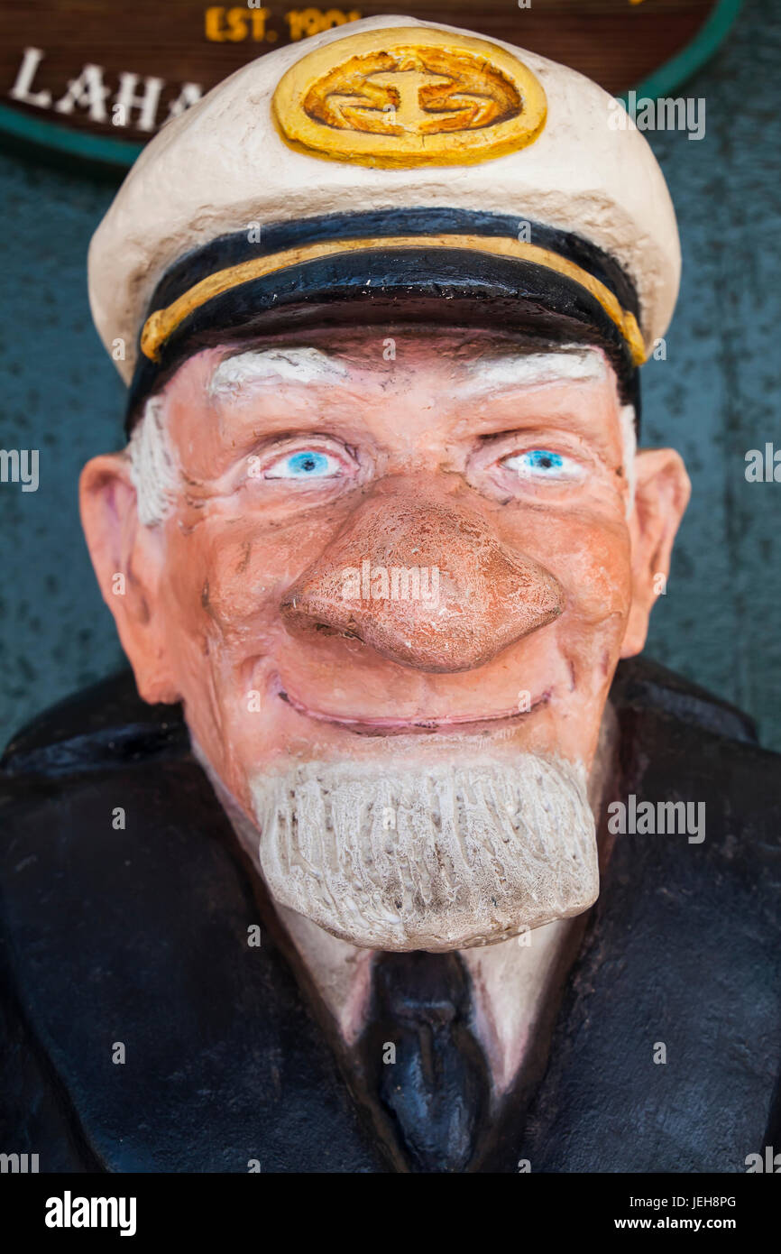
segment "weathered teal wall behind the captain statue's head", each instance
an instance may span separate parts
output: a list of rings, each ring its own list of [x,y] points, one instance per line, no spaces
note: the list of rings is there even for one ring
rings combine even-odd
[[[648,133],[678,212],[683,286],[667,360],[644,369],[644,444],[683,454],[693,498],[647,652],[758,722],[781,750],[781,483],[745,454],[781,449],[781,20],[746,0],[677,94],[706,135]],[[0,484],[0,744],[122,662],[76,508],[78,474],[118,448],[123,387],[86,301],[89,238],[115,184],[0,153],[0,448],[40,450],[40,487]]]

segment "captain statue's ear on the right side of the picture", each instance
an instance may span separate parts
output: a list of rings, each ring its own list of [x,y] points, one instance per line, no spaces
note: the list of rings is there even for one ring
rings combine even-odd
[[[669,556],[692,492],[683,459],[674,449],[643,449],[634,459],[632,607],[622,657],[641,652],[656,598],[667,588]]]

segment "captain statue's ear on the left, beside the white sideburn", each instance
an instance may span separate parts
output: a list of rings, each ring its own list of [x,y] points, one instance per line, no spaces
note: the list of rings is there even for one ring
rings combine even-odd
[[[103,599],[114,616],[144,701],[178,701],[167,658],[159,589],[162,527],[138,522],[135,488],[124,453],[93,458],[79,483],[81,527]]]

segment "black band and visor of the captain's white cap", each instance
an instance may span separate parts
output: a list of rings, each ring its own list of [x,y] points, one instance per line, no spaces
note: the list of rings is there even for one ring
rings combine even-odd
[[[486,250],[494,241],[522,238],[533,246],[527,250],[532,257],[547,253],[560,270],[523,256],[483,251],[479,241],[476,247],[463,247],[464,236],[484,237]],[[445,238],[449,246],[434,246],[435,237]],[[351,243],[356,240],[360,250]],[[328,241],[346,243],[330,250]],[[317,252],[321,255],[312,256]],[[243,276],[252,270],[247,262],[276,255],[290,255],[291,263],[219,291],[223,272],[244,267],[238,271]],[[188,298],[193,290],[204,287],[207,292],[214,287],[216,295],[199,302]],[[186,312],[170,320],[173,329],[159,337],[154,359],[148,342],[144,352],[139,341],[128,433],[144,400],[193,352],[216,342],[333,321],[411,321],[431,327],[458,322],[524,331],[548,342],[597,344],[616,369],[623,399],[639,414],[637,352],[626,332],[626,324],[633,324],[637,341],[638,301],[632,282],[613,258],[588,241],[518,217],[466,209],[389,209],[327,214],[262,229],[248,224],[172,266],[154,291],[145,326],[154,324],[149,316],[158,311],[168,315],[172,306],[176,312],[183,303]]]

